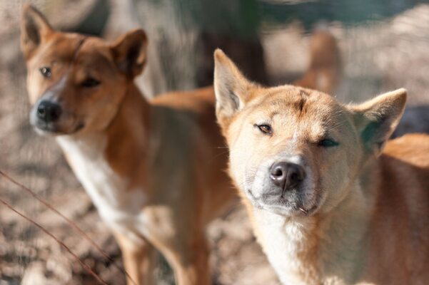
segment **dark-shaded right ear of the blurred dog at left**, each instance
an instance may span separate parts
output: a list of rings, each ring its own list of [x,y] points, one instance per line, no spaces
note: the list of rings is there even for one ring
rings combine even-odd
[[[111,51],[119,71],[125,73],[128,78],[138,76],[146,63],[147,45],[146,33],[141,28],[118,38],[111,46]]]

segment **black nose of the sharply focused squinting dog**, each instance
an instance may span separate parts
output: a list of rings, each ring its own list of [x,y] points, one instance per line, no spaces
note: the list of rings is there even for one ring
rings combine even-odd
[[[276,162],[271,166],[270,177],[281,189],[291,190],[306,178],[306,171],[301,165],[295,163]]]

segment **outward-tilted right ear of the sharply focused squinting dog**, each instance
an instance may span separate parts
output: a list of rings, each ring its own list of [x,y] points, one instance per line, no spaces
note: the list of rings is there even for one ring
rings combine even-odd
[[[378,156],[402,117],[407,90],[400,88],[353,107],[365,151]]]

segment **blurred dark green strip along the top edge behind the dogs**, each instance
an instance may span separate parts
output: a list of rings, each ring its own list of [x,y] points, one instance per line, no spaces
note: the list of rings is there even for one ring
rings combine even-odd
[[[173,5],[181,24],[241,38],[255,38],[261,26],[301,21],[311,29],[321,21],[345,26],[388,18],[428,0],[140,0]]]

